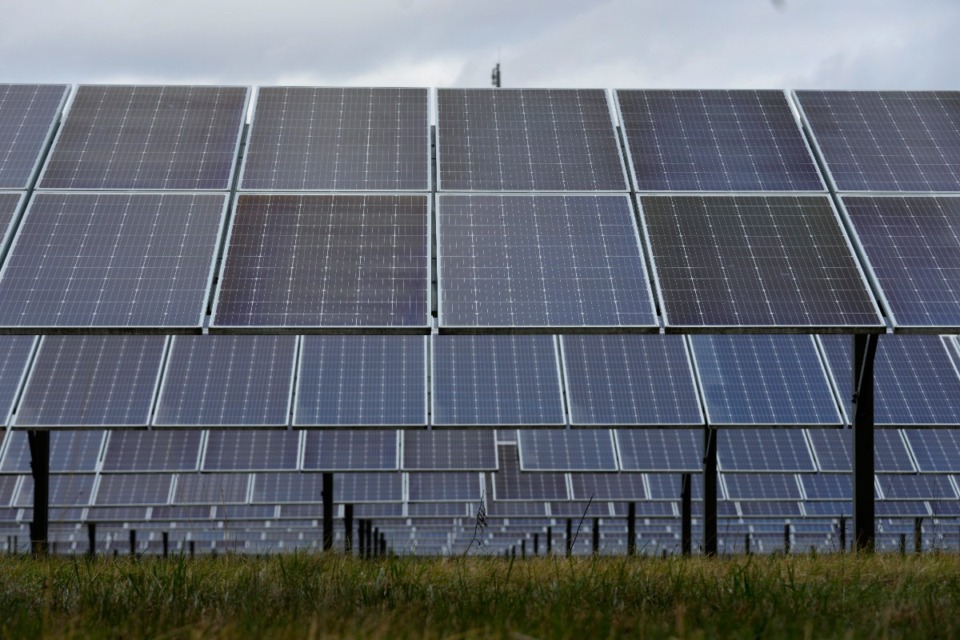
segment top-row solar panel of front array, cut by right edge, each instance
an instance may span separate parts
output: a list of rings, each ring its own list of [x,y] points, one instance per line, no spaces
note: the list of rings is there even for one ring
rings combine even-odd
[[[796,96],[837,191],[960,191],[960,93]]]

